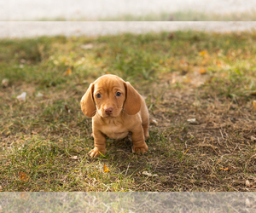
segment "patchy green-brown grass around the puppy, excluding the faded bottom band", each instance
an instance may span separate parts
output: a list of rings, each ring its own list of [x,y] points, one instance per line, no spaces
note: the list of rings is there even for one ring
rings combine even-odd
[[[255,191],[255,41],[255,32],[191,31],[2,39],[0,190]],[[106,73],[145,97],[148,153],[132,154],[124,139],[88,155],[79,101]]]

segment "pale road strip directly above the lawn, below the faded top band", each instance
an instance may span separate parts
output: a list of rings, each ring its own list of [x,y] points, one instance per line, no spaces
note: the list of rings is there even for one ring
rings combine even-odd
[[[204,22],[204,21],[2,21],[0,37],[37,37],[37,36],[99,36],[123,32],[160,32],[177,30],[200,30],[208,32],[230,32],[256,30],[256,22]]]

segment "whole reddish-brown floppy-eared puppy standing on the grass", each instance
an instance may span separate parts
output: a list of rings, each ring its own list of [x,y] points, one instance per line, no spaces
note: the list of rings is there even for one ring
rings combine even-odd
[[[148,108],[129,82],[114,75],[104,75],[90,87],[81,100],[84,115],[92,117],[94,149],[91,157],[106,153],[106,136],[125,138],[131,132],[132,153],[145,153],[148,146]]]

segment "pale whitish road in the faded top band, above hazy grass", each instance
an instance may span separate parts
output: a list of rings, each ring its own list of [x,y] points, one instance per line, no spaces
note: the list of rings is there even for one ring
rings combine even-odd
[[[194,10],[224,14],[256,9],[256,0],[0,0],[0,20],[97,20],[121,14]]]

